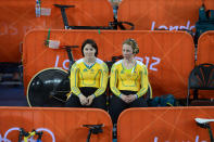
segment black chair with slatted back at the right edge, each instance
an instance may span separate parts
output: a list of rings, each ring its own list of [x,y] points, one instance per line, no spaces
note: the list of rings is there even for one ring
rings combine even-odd
[[[193,91],[191,92],[191,90]],[[214,91],[214,65],[206,63],[196,66],[189,75],[187,105],[189,103],[197,106],[214,105],[214,102],[210,100],[213,98],[213,91],[211,90]],[[190,102],[191,94],[193,94],[193,101]],[[203,99],[199,100],[199,94]]]

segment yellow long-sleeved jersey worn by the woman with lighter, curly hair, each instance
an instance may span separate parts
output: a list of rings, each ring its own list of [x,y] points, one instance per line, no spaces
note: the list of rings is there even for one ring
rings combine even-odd
[[[147,66],[136,61],[133,69],[126,69],[122,61],[114,63],[111,69],[110,88],[112,92],[119,96],[119,90],[137,91],[137,96],[142,96],[149,86]]]

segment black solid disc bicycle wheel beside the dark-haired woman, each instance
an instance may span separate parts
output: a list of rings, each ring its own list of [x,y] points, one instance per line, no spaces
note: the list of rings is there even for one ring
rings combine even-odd
[[[27,88],[29,106],[64,106],[70,92],[68,74],[60,68],[46,68],[36,74]]]

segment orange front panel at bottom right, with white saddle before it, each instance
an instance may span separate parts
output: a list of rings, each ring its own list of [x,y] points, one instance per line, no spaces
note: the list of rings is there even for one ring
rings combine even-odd
[[[194,118],[214,118],[214,107],[150,107],[124,111],[117,121],[118,142],[202,142],[209,131]],[[211,127],[214,124],[211,122]]]

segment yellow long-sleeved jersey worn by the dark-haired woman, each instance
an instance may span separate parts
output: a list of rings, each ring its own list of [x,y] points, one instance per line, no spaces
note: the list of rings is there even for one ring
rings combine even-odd
[[[92,87],[98,88],[93,94],[99,96],[106,89],[108,77],[109,69],[103,61],[97,59],[93,65],[88,66],[84,59],[80,59],[72,66],[71,91],[79,95],[81,93],[79,87]]]

